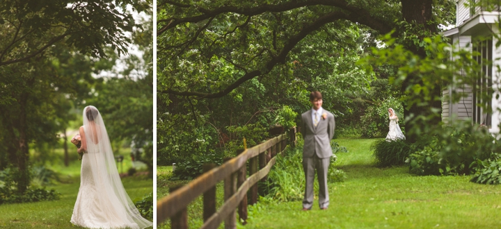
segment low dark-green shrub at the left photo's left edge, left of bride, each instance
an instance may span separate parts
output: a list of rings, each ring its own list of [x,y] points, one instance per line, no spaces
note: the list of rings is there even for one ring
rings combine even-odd
[[[56,190],[43,188],[27,189],[24,194],[17,192],[18,172],[15,168],[0,171],[0,205],[4,203],[31,203],[37,201],[53,201],[59,199],[60,193]]]

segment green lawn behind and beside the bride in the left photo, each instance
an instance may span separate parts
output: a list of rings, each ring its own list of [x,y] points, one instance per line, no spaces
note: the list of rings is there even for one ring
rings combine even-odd
[[[120,154],[125,155],[125,160],[130,158],[125,151]],[[62,194],[61,198],[57,201],[0,205],[0,228],[79,228],[72,226],[70,219],[80,187],[81,162],[74,157],[69,167],[64,167],[62,160],[59,163],[48,167],[60,172],[65,183],[58,183],[47,189],[56,189]],[[124,162],[124,172],[127,171],[126,163]],[[153,191],[153,180],[146,176],[122,178],[122,183],[133,201],[134,198]]]

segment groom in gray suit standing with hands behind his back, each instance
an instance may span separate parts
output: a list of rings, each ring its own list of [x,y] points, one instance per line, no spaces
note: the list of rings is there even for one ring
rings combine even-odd
[[[315,169],[319,181],[319,206],[326,210],[329,204],[327,171],[331,162],[331,139],[334,136],[334,115],[321,108],[320,92],[311,92],[312,109],[301,114],[301,135],[303,135],[303,170],[306,189],[303,198],[303,211],[311,210],[313,205],[313,180]]]

